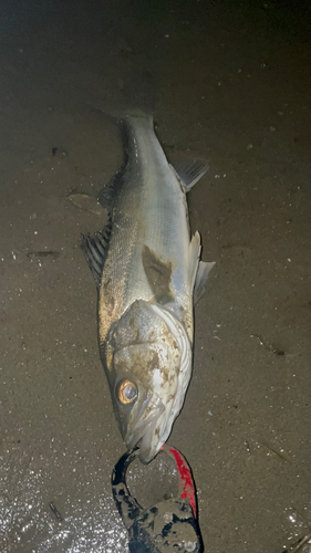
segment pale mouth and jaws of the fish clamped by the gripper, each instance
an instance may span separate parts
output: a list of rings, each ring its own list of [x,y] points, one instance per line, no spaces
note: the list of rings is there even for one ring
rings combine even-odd
[[[138,458],[144,465],[153,460],[167,438],[162,431],[164,415],[165,406],[162,399],[157,394],[151,394],[142,405],[137,422],[127,429],[125,445],[127,449],[139,447]]]

